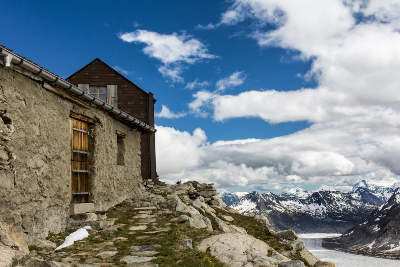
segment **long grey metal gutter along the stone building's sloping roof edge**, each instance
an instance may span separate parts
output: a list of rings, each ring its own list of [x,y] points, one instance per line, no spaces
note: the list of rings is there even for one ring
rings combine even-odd
[[[39,66],[29,62],[26,59],[23,59],[22,57],[12,53],[11,51],[8,51],[5,48],[0,48],[0,57],[3,58],[4,66],[6,68],[10,68],[11,63],[14,66],[19,66],[20,68],[31,72],[35,76],[42,77],[43,79],[49,81],[50,83],[57,84],[63,90],[69,91],[77,95],[79,98],[85,99],[105,110],[107,112],[111,112],[115,114],[116,116],[135,124],[137,127],[142,128],[146,131],[150,132],[156,132],[157,130],[151,127],[150,125],[147,125],[146,123],[139,121],[138,119],[133,118],[132,116],[129,116],[125,112],[122,112],[122,110],[117,109],[110,104],[107,104],[104,101],[101,101],[100,99],[93,97],[92,95],[80,90],[78,87],[73,85],[72,83],[69,83],[65,81],[64,79],[61,79],[60,77],[57,77],[56,75],[44,70],[43,68],[40,68]]]

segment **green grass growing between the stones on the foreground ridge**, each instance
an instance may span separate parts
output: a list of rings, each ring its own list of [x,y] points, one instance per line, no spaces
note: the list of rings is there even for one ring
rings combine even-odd
[[[167,208],[167,207],[161,207]],[[153,213],[156,213],[154,211]],[[126,207],[125,205],[117,205],[113,209],[107,212],[108,218],[117,218],[115,224],[125,224],[118,229],[117,232],[113,234],[96,234],[90,235],[88,238],[83,239],[82,241],[78,241],[74,244],[74,246],[67,247],[65,249],[61,249],[60,252],[65,252],[65,254],[59,254],[56,252],[54,254],[55,257],[65,257],[70,254],[88,252],[92,257],[97,257],[102,251],[108,251],[110,246],[99,246],[100,243],[106,241],[112,241],[116,237],[125,237],[127,240],[115,240],[113,241],[113,246],[117,248],[118,253],[113,257],[112,263],[116,266],[127,266],[126,264],[120,262],[120,260],[125,257],[131,255],[131,246],[143,246],[149,244],[160,244],[161,246],[153,249],[158,252],[156,256],[162,257],[154,259],[153,262],[159,264],[159,266],[173,266],[173,267],[224,267],[225,265],[221,263],[217,258],[212,256],[209,251],[202,253],[199,252],[196,247],[200,244],[200,242],[210,236],[220,234],[221,232],[218,230],[217,222],[215,221],[213,216],[205,214],[213,226],[214,232],[207,232],[204,229],[195,229],[190,228],[185,224],[176,224],[174,222],[169,225],[170,230],[166,232],[154,233],[154,234],[146,234],[145,232],[151,231],[151,224],[148,226],[147,230],[144,231],[136,231],[133,234],[129,234],[131,231],[128,230],[131,226],[135,225],[140,219],[135,219],[134,221],[132,216],[137,215],[138,212],[133,210],[133,207]],[[236,225],[239,227],[243,227],[246,229],[249,235],[254,236],[255,238],[261,239],[269,246],[274,248],[277,252],[287,251],[285,248],[285,244],[279,242],[279,240],[272,236],[268,229],[255,221],[252,217],[243,216],[237,213],[229,213],[221,209],[216,209],[216,214],[221,217],[221,215],[228,215],[234,218],[232,225]],[[156,227],[166,227],[167,223],[174,217],[181,215],[181,213],[173,212],[168,215],[159,215],[156,217],[157,226]],[[138,239],[139,236],[147,235],[150,238],[146,239]],[[151,237],[158,237],[158,239],[151,239]],[[192,239],[193,241],[193,249],[180,249],[176,246],[177,242],[182,239]],[[65,239],[65,235],[63,234],[51,234],[48,237],[49,240],[55,242],[57,246],[62,243],[62,240]],[[100,248],[99,251],[91,251],[84,250],[87,248]],[[31,248],[30,248],[31,249]],[[32,248],[34,250],[36,248]],[[272,252],[270,252],[272,253]],[[297,253],[294,259],[299,259],[300,254]],[[80,257],[79,263],[85,263],[87,257]],[[310,266],[308,262],[304,262],[306,266]]]

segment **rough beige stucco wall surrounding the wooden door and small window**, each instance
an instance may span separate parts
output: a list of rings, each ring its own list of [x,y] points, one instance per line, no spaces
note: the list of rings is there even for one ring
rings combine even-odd
[[[7,144],[16,159],[11,170],[0,170],[0,220],[19,231],[45,237],[59,233],[69,217],[69,114],[95,118],[90,126],[90,202],[106,210],[126,198],[142,196],[140,132],[96,108],[86,109],[44,90],[35,82],[0,66],[0,90],[7,101],[5,116],[14,132]],[[125,166],[116,165],[115,130],[126,133]],[[90,148],[89,148],[90,149]]]

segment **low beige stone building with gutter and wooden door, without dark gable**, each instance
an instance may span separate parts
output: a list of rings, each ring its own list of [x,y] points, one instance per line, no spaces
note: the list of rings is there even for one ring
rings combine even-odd
[[[140,140],[155,131],[0,47],[0,221],[45,237],[74,209],[141,197]]]

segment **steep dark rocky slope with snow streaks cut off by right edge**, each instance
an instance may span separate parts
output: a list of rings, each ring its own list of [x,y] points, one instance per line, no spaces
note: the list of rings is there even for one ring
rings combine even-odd
[[[353,250],[371,250],[400,256],[400,188],[361,224],[348,229],[335,242]]]

